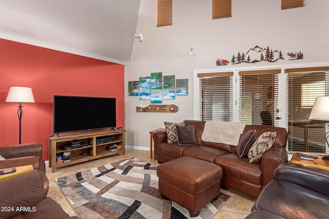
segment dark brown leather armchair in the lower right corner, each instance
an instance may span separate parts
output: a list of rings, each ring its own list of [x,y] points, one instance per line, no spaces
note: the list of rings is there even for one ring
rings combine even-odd
[[[329,170],[281,164],[246,218],[328,218]]]

